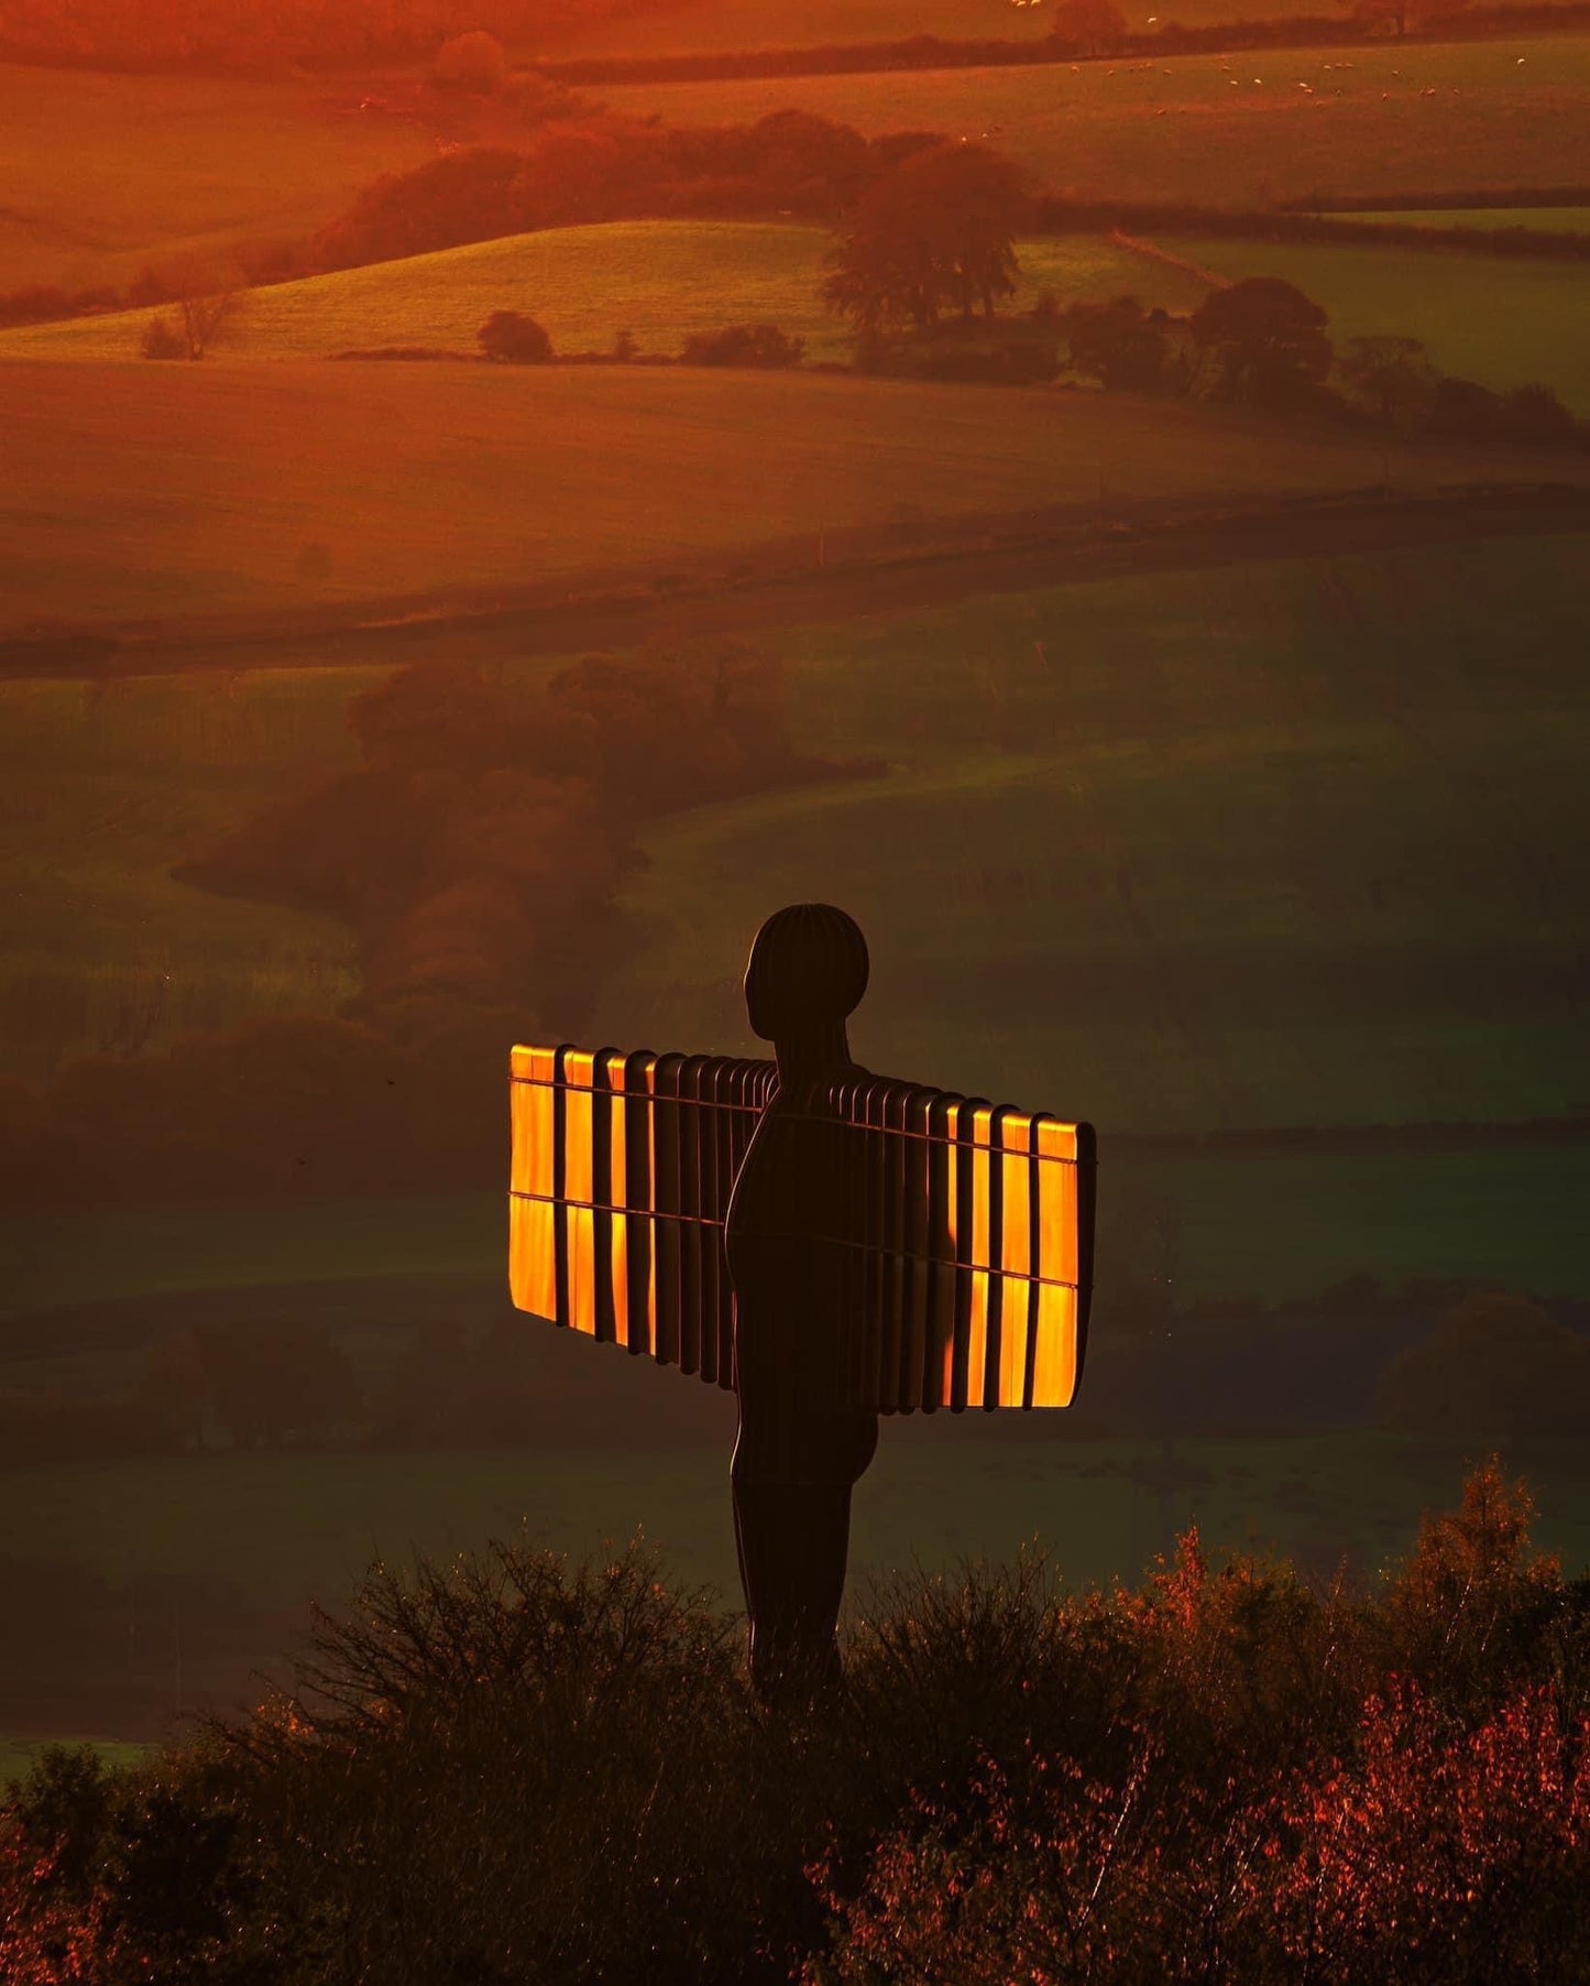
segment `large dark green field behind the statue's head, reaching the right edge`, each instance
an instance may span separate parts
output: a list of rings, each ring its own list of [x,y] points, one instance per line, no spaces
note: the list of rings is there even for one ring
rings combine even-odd
[[[875,1068],[1133,1130],[1584,1110],[1582,550],[794,630],[810,743],[889,771],[661,824],[594,1033],[744,1043],[744,933],[830,898]]]

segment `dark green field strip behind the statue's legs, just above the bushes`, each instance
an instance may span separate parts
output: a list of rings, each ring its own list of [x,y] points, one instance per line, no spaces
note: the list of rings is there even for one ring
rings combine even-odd
[[[659,1378],[667,1384],[667,1378]],[[673,1384],[689,1384],[673,1380]],[[732,1426],[732,1410],[727,1426]],[[1179,1464],[1163,1486],[1145,1468]],[[1572,1444],[1511,1458],[1540,1503],[1538,1541],[1590,1561],[1590,1476]],[[1074,1585],[1135,1583],[1177,1531],[1213,1549],[1278,1547],[1374,1571],[1425,1509],[1457,1501],[1465,1456],[1391,1436],[1076,1442],[973,1418],[889,1422],[856,1493],[854,1603],[867,1575],[1048,1549]],[[415,1456],[210,1456],[0,1472],[0,1557],[127,1581],[185,1573],[250,1599],[339,1603],[375,1559],[524,1539],[576,1557],[655,1543],[669,1577],[738,1599],[727,1446]],[[260,1650],[262,1660],[280,1650]]]

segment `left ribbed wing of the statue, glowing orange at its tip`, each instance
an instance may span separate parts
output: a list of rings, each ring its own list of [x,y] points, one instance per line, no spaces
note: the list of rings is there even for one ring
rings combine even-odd
[[[514,1049],[514,1305],[732,1388],[723,1223],[772,1080],[725,1055]]]

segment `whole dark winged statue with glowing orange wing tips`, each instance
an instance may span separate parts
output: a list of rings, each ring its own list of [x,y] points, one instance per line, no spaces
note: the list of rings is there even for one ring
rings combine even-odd
[[[871,1076],[861,931],[794,904],[744,975],[772,1063],[514,1049],[510,1283],[558,1325],[732,1388],[756,1688],[810,1700],[877,1416],[1068,1406],[1092,1289],[1094,1134]]]

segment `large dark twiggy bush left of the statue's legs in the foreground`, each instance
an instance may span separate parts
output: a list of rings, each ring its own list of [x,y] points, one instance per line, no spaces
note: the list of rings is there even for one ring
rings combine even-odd
[[[284,1903],[359,1978],[784,1972],[758,1946],[780,1887],[780,1916],[804,1907],[794,1801],[756,1768],[782,1740],[729,1623],[645,1553],[375,1567],[230,1744],[278,1815]]]

